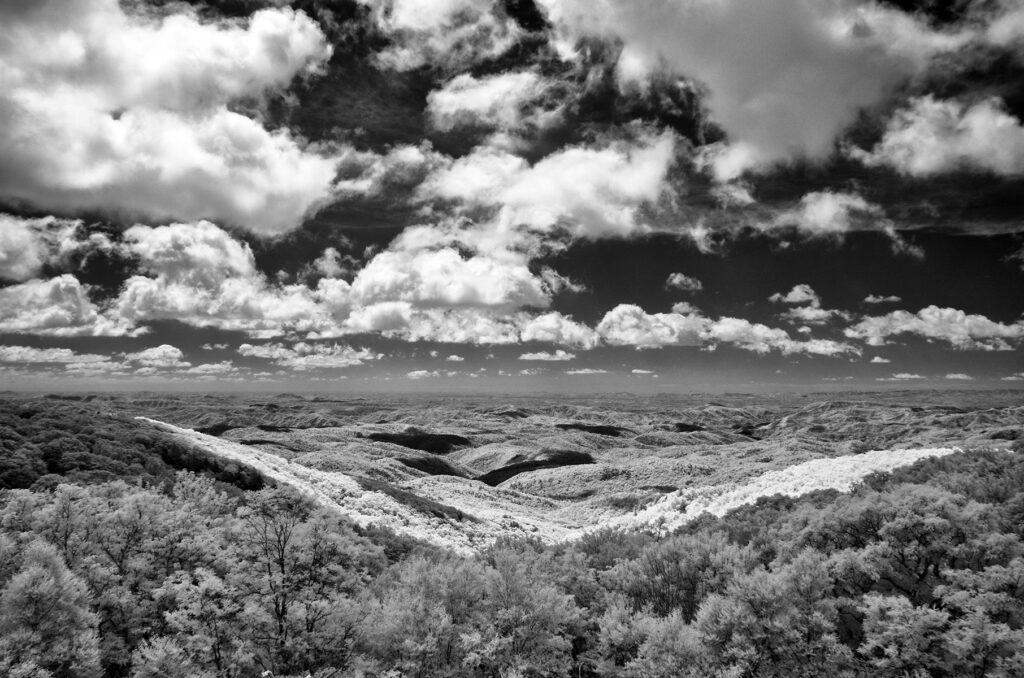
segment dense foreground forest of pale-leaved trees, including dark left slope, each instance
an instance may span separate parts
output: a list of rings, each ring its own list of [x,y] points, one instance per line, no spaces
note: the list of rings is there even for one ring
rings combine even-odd
[[[1017,452],[468,556],[127,420],[0,426],[3,676],[1024,675]]]

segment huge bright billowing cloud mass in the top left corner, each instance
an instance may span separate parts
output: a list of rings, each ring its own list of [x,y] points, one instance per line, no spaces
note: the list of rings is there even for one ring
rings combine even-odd
[[[332,153],[228,105],[316,72],[331,54],[316,24],[289,8],[220,23],[173,11],[117,0],[0,7],[0,195],[266,235],[330,196]]]

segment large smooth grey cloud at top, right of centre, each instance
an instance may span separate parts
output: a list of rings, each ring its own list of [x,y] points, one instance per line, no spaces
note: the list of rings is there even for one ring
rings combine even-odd
[[[965,39],[873,3],[540,4],[568,39],[621,39],[624,80],[643,82],[660,69],[698,80],[712,117],[737,150],[729,172],[719,172],[724,178],[794,156],[828,156],[861,109],[884,100],[930,54]]]

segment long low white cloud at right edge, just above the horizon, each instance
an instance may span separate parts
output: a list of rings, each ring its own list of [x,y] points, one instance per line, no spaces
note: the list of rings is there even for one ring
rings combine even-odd
[[[944,341],[964,350],[1013,350],[1024,339],[1024,321],[996,323],[984,315],[932,305],[916,313],[895,310],[885,315],[869,315],[847,328],[844,334],[851,339],[862,339],[870,346],[882,346],[892,337],[909,334]]]

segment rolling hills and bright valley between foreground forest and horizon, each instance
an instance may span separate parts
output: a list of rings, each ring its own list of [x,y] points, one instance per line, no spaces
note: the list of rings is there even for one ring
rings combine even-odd
[[[466,550],[499,537],[557,542],[604,525],[678,524],[700,506],[721,513],[759,496],[848,488],[922,457],[1007,448],[1024,427],[1017,395],[8,401],[117,417],[211,467],[241,466],[360,524]]]

